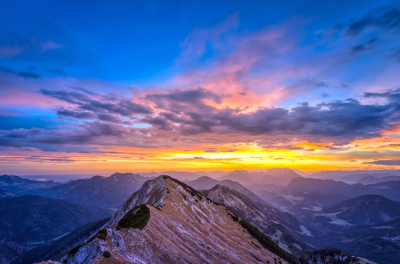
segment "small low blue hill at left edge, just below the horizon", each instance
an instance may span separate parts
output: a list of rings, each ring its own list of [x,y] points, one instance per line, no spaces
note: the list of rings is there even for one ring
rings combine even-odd
[[[60,184],[54,181],[32,181],[15,175],[0,176],[0,190],[15,193],[26,193],[34,189],[47,189]]]

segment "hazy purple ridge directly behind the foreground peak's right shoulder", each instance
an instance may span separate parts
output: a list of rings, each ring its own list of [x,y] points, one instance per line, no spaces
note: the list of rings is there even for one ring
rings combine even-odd
[[[202,177],[197,178],[196,180],[187,181],[186,184],[196,190],[208,190],[208,189],[211,189],[212,187],[214,187],[215,185],[220,184],[223,186],[230,187],[240,193],[243,193],[244,195],[248,196],[250,199],[252,199],[255,202],[266,203],[263,199],[258,197],[252,191],[250,191],[249,189],[247,189],[240,183],[232,181],[232,180],[219,181],[219,180],[212,179],[208,176],[202,176]]]

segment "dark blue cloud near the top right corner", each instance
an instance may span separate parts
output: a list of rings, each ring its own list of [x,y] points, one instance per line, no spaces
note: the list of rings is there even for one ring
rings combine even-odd
[[[348,36],[357,36],[368,28],[383,30],[400,29],[399,9],[393,6],[373,9],[361,19],[349,24],[345,29],[345,34]]]

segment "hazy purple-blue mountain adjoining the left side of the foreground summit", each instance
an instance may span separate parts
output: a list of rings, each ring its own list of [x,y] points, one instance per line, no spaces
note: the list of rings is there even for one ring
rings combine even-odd
[[[148,178],[132,173],[115,173],[110,177],[94,176],[71,181],[50,189],[36,190],[36,194],[75,203],[116,209]]]

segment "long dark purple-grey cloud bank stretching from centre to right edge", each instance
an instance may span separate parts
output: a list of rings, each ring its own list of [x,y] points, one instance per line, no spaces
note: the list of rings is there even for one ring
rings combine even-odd
[[[366,97],[385,97],[384,105],[363,105],[357,100],[334,101],[310,106],[303,103],[292,109],[262,108],[252,113],[237,109],[193,111],[191,103],[180,104],[179,113],[161,113],[143,122],[183,135],[200,133],[244,133],[247,135],[329,136],[344,139],[377,135],[398,120],[400,91],[367,93]],[[166,103],[166,106],[168,103]],[[168,110],[168,108],[166,109]]]

